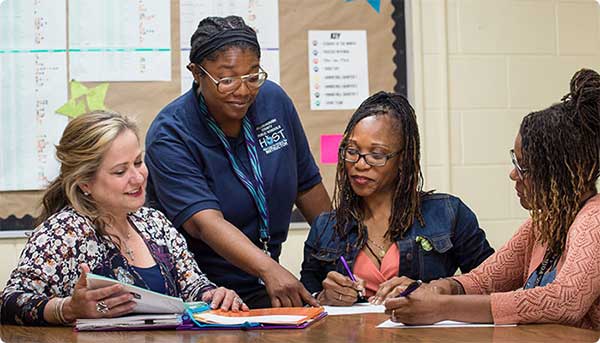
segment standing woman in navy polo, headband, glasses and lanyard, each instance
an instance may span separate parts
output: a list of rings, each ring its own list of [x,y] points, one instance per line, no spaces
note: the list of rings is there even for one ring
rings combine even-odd
[[[149,204],[250,307],[315,305],[278,259],[293,205],[312,222],[330,200],[292,101],[260,66],[256,33],[240,17],[205,18],[187,67],[192,88],[146,136]]]

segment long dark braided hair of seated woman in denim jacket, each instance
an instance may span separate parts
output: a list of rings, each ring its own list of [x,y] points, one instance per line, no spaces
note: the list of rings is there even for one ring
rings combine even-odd
[[[390,240],[401,238],[415,219],[425,225],[421,214],[423,175],[420,165],[419,129],[415,111],[408,100],[396,93],[378,92],[367,98],[354,112],[346,126],[340,144],[336,182],[333,195],[335,211],[334,230],[339,237],[346,237],[352,220],[358,223],[359,241],[365,236],[365,210],[363,200],[352,190],[346,171],[343,153],[354,127],[369,116],[389,116],[393,119],[393,130],[401,137],[400,165],[392,198],[392,214],[385,237]]]

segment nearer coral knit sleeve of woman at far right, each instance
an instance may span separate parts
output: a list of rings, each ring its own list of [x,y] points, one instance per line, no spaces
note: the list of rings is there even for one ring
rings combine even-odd
[[[553,282],[491,295],[494,322],[581,326],[600,296],[600,215],[571,225],[564,263]]]

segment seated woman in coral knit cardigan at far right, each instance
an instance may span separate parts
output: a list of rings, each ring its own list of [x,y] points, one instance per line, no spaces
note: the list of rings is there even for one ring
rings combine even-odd
[[[600,329],[599,153],[600,75],[582,69],[562,102],[523,119],[510,151],[510,178],[531,218],[470,273],[389,299],[392,320]]]

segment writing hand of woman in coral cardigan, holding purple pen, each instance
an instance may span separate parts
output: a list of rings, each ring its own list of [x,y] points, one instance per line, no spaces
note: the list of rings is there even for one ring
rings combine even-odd
[[[390,315],[392,321],[409,325],[437,323],[446,319],[443,297],[431,288],[422,289],[421,286],[407,297],[385,300],[385,313]]]

